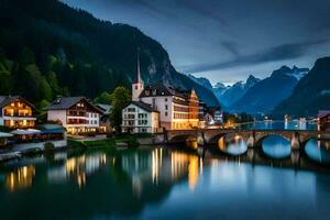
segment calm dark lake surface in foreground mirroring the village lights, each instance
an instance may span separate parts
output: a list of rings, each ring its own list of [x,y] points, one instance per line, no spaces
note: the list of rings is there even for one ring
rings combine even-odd
[[[317,141],[306,148],[329,156]],[[0,174],[6,220],[330,217],[328,172],[201,158],[168,147],[63,152],[1,164]]]

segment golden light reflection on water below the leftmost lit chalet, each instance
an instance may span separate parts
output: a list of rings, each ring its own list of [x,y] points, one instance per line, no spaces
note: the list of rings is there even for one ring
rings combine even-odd
[[[6,175],[4,177],[6,187],[10,191],[29,188],[32,186],[34,175],[35,175],[35,167],[33,165],[19,167],[15,170],[10,172],[9,174]]]

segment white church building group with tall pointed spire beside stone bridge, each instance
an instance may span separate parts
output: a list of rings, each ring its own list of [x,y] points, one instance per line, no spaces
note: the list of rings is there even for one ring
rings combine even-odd
[[[199,99],[194,89],[179,91],[168,85],[144,86],[138,56],[132,101],[122,110],[122,131],[156,133],[199,127]]]

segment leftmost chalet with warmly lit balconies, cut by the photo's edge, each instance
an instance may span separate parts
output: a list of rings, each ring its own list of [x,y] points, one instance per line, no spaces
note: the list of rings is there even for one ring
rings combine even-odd
[[[10,129],[35,127],[33,105],[20,96],[0,96],[0,125]]]

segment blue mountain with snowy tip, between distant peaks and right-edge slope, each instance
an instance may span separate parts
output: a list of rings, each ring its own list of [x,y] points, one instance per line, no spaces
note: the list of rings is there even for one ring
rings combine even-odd
[[[288,98],[307,68],[282,66],[263,80],[252,84],[250,89],[230,109],[235,112],[270,112]]]

